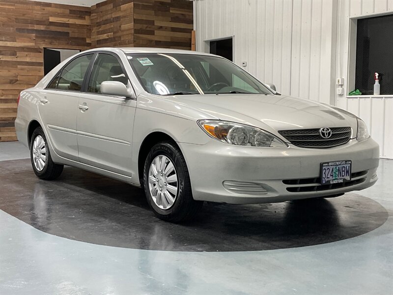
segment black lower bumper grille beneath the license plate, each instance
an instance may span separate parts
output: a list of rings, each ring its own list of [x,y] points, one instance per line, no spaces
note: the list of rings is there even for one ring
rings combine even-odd
[[[365,181],[366,171],[354,172],[351,174],[351,181],[342,182],[342,183],[333,183],[321,185],[320,177],[312,177],[312,178],[299,178],[299,179],[284,179],[282,183],[290,185],[286,188],[288,192],[291,193],[302,193],[302,192],[319,192],[329,189],[336,189],[342,187],[348,187],[355,184],[359,184]],[[298,186],[302,185],[302,186]]]

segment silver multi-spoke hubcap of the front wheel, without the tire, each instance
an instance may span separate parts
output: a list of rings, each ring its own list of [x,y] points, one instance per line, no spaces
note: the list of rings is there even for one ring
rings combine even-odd
[[[150,164],[149,191],[154,203],[161,209],[173,206],[177,196],[177,174],[166,156],[157,156]]]

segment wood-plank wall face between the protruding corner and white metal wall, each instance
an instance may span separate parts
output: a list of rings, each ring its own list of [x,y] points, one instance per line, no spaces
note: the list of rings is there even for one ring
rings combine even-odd
[[[191,49],[193,2],[134,0],[134,46]]]

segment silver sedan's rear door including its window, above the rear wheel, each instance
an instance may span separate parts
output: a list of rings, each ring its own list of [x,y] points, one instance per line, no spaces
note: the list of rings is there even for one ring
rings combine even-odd
[[[71,60],[41,93],[38,111],[55,152],[78,160],[76,118],[84,76],[93,54]]]

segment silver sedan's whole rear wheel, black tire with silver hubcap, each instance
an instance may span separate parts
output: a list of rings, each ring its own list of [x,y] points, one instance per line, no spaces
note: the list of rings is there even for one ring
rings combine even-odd
[[[48,143],[41,127],[37,127],[31,136],[30,160],[35,175],[45,180],[53,180],[60,176],[64,166],[52,161]]]

